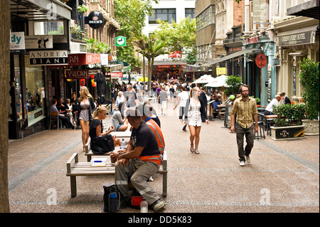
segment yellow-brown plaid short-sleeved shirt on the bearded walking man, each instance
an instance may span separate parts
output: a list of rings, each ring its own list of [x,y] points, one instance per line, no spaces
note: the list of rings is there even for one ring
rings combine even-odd
[[[233,103],[233,110],[231,110],[230,114],[235,115],[237,113],[236,122],[241,125],[241,127],[248,128],[253,124],[253,116],[257,115],[257,102],[252,97],[245,102],[242,100],[242,97],[239,97]]]

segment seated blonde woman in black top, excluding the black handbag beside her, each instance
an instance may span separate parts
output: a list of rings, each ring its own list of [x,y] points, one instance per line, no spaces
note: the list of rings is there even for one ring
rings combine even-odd
[[[93,119],[90,122],[90,129],[89,129],[89,135],[91,138],[91,141],[93,141],[92,138],[100,137],[105,134],[110,134],[114,130],[114,127],[110,127],[110,130],[107,132],[103,132],[103,125],[102,120],[105,120],[105,117],[107,117],[107,108],[106,107],[97,107],[97,110],[93,112]],[[114,147],[120,147],[121,142],[120,139],[117,139],[115,136],[112,137],[114,140]]]

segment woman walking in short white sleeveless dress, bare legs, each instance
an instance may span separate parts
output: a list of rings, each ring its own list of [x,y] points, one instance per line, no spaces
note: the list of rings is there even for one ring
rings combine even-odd
[[[202,125],[201,115],[206,119],[206,124],[209,125],[205,110],[206,102],[199,99],[199,96],[200,89],[198,87],[192,88],[190,91],[190,102],[188,103],[188,126],[190,131],[190,151],[196,154],[200,154],[198,152],[198,145]],[[193,148],[193,142],[196,145],[195,148]]]

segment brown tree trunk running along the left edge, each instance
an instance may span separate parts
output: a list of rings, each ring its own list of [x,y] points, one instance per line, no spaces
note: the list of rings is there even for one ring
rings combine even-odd
[[[8,116],[10,86],[10,1],[0,3],[0,213],[9,213]]]

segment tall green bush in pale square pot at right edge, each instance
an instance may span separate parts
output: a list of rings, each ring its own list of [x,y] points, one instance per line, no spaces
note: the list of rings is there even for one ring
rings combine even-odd
[[[306,102],[306,135],[319,134],[319,62],[314,63],[309,58],[299,61],[301,71],[299,74],[300,84],[304,92],[302,97]]]

